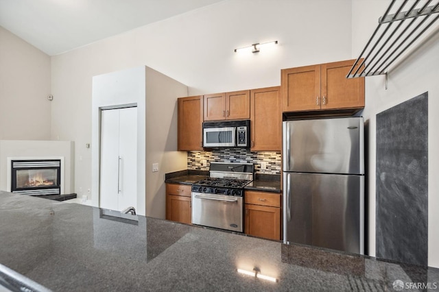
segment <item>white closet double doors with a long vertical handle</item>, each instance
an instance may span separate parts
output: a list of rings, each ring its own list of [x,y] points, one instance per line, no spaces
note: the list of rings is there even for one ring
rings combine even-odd
[[[137,108],[101,112],[99,206],[137,208]]]

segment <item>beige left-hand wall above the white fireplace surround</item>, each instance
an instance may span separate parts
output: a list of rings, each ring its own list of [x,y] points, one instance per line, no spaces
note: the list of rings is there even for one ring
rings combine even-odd
[[[0,27],[0,140],[50,138],[50,57]]]

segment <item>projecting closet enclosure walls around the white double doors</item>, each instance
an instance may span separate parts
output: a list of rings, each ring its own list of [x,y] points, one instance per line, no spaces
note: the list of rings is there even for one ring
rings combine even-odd
[[[187,86],[145,66],[93,77],[93,206],[99,206],[99,108],[137,104],[137,213],[165,219],[165,173],[187,167],[187,152],[177,151],[176,98],[184,96]]]

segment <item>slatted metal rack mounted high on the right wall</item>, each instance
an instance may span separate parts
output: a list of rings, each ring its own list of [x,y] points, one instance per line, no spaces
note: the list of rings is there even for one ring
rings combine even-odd
[[[387,75],[388,67],[439,19],[439,14],[433,16],[439,12],[439,0],[432,1],[401,0],[394,7],[396,0],[392,0],[346,77]],[[408,10],[402,12],[406,5]]]

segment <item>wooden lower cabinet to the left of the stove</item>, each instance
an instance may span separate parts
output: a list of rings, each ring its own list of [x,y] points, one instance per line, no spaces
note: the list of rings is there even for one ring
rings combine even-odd
[[[166,219],[191,224],[191,186],[166,184]]]

